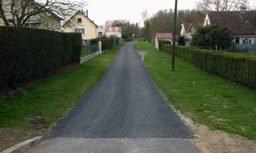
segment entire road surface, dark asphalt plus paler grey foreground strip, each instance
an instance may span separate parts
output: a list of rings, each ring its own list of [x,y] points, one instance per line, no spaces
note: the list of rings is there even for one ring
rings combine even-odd
[[[134,43],[119,50],[51,139],[30,152],[200,152],[184,140],[190,129],[157,89]]]

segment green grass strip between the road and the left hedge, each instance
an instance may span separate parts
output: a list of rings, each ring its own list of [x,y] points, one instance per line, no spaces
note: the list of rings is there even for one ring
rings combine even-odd
[[[27,86],[20,91],[26,93],[24,96],[10,96],[0,101],[0,128],[49,128],[102,77],[121,46],[108,50],[78,68]],[[41,118],[33,119],[35,116]]]

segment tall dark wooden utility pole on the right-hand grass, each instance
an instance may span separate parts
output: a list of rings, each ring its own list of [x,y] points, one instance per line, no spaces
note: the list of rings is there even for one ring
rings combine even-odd
[[[173,43],[172,43],[172,71],[175,71],[176,25],[177,25],[177,0],[175,0],[175,10],[174,10],[174,30],[173,30]]]

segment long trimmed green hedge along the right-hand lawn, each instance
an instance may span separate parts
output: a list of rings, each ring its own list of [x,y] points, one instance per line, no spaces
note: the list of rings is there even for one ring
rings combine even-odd
[[[159,42],[159,49],[172,53],[172,45]],[[176,46],[176,56],[212,74],[256,89],[256,56]]]

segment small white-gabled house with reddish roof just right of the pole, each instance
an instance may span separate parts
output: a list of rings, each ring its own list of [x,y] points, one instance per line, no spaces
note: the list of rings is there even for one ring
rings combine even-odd
[[[191,38],[195,34],[195,30],[196,30],[196,27],[193,23],[183,23],[182,31],[180,31],[180,35],[187,40],[191,40]]]

